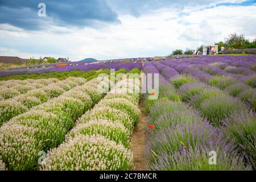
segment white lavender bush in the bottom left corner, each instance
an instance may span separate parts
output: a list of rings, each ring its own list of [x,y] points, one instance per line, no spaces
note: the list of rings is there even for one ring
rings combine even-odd
[[[40,142],[34,138],[38,130],[33,127],[9,125],[0,127],[0,154],[9,170],[34,169]]]

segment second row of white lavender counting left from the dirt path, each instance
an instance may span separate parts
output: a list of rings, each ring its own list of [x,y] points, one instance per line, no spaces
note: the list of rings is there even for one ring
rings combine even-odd
[[[0,128],[0,155],[8,170],[35,170],[40,155],[63,142],[74,121],[101,100],[97,78],[14,117]]]

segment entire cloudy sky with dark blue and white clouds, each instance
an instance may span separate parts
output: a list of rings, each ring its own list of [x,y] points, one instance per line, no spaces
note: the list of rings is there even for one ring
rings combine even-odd
[[[2,56],[166,56],[233,32],[256,38],[256,1],[0,0]]]

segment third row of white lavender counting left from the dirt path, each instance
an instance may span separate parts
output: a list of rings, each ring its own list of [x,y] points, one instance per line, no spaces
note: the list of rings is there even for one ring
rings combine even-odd
[[[49,79],[52,80],[52,79]],[[24,80],[20,80],[24,81]],[[43,79],[41,81],[44,82]],[[49,81],[51,82],[51,81]],[[52,82],[52,84],[46,84],[39,89],[33,89],[24,94],[19,94],[6,101],[0,102],[0,126],[3,122],[9,121],[16,115],[25,113],[34,106],[38,106],[44,102],[47,102],[51,98],[58,97],[61,94],[67,92],[77,85],[82,85],[86,82],[84,78],[68,77],[63,81]],[[8,90],[2,90],[2,92],[9,92]],[[7,93],[6,93],[7,94]]]

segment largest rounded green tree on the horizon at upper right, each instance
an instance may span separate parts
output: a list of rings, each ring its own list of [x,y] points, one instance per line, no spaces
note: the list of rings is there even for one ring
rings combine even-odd
[[[224,40],[226,48],[243,49],[250,46],[249,40],[245,39],[244,35],[238,35],[237,33],[230,34]]]

